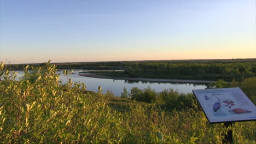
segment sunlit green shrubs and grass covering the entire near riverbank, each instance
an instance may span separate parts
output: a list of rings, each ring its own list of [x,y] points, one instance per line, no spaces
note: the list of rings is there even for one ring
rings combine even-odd
[[[209,124],[193,94],[125,88],[122,98],[59,81],[56,65],[15,72],[0,67],[0,143],[221,143],[222,124]],[[31,70],[27,70],[31,69]],[[63,72],[67,77],[72,71]],[[256,77],[208,87],[241,87],[254,101]],[[233,124],[234,143],[255,143],[255,122]]]

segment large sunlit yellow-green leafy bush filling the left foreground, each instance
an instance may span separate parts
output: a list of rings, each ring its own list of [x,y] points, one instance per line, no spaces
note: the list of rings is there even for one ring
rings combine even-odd
[[[103,94],[85,94],[83,83],[59,85],[56,66],[25,69],[20,81],[1,67],[0,143],[115,142],[118,119]],[[66,73],[68,74],[68,73]],[[106,133],[107,132],[107,133]]]

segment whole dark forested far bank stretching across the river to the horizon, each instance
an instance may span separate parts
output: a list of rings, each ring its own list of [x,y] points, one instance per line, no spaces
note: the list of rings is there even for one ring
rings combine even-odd
[[[123,70],[104,71],[108,76],[160,79],[242,81],[256,76],[256,59],[216,59],[184,61],[130,61],[55,63],[58,69]],[[43,64],[31,64],[34,67]],[[8,64],[9,70],[24,69],[26,64]],[[98,72],[97,72],[98,73]]]

